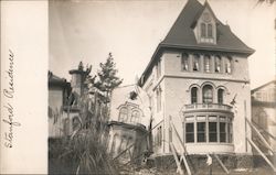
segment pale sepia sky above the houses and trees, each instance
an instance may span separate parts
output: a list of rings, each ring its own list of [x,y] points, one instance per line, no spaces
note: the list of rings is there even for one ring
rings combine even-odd
[[[204,3],[205,0],[199,0]],[[275,77],[276,6],[257,0],[208,0],[216,18],[256,52],[248,57],[251,88]],[[50,67],[70,80],[82,61],[99,69],[112,52],[124,78],[135,83],[187,0],[54,0],[50,1]]]

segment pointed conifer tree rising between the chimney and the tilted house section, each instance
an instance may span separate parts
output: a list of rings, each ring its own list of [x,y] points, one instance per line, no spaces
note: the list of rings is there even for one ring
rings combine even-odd
[[[95,87],[105,94],[105,101],[109,102],[109,96],[114,88],[118,87],[123,79],[117,76],[118,70],[113,58],[113,54],[109,53],[106,63],[100,63],[100,70],[98,70],[98,80],[95,83]]]

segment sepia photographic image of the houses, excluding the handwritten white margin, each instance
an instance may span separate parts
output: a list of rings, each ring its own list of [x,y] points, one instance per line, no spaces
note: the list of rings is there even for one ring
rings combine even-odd
[[[49,174],[275,174],[275,3],[49,1]]]

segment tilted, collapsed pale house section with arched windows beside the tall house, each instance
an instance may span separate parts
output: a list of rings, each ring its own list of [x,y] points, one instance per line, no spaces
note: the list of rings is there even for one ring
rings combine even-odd
[[[109,153],[121,162],[141,163],[148,151],[150,120],[148,97],[135,85],[113,90],[109,119]],[[130,149],[126,152],[130,146]],[[121,154],[121,155],[120,155]]]

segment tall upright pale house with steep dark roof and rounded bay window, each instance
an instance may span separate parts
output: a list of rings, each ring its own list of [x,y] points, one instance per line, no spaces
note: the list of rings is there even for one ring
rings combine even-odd
[[[152,103],[155,156],[181,144],[188,154],[251,154],[245,117],[251,120],[246,46],[223,24],[208,1],[188,0],[157,46],[139,85]]]

